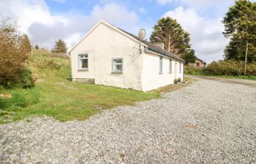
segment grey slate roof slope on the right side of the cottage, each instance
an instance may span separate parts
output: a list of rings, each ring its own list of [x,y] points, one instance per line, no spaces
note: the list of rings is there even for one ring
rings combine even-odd
[[[118,29],[123,31],[124,33],[128,34],[129,36],[132,36],[133,38],[137,39],[138,41],[140,40],[138,38],[138,36],[130,34],[129,32],[122,30],[121,28],[118,28]],[[182,58],[179,58],[177,55],[174,55],[173,53],[170,53],[167,50],[164,50],[161,47],[158,47],[157,45],[155,45],[155,44],[153,44],[151,42],[147,42],[146,40],[142,40],[141,42],[143,42],[143,44],[146,44],[148,46],[148,50],[151,50],[153,52],[157,52],[157,53],[159,53],[161,55],[167,56],[169,58],[173,58],[175,60],[181,61],[182,63],[186,63],[186,61],[183,60]]]

